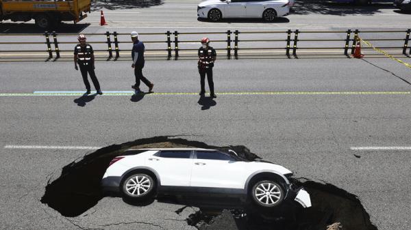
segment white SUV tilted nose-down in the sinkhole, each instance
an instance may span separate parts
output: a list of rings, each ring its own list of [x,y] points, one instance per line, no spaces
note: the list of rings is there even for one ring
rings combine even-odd
[[[238,198],[268,208],[285,200],[310,207],[310,195],[290,183],[291,175],[280,165],[249,161],[232,150],[129,149],[110,162],[101,184],[103,190],[136,200],[188,194]]]

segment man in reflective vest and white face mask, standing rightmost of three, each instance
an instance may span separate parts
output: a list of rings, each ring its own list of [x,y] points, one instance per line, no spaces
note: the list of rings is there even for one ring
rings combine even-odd
[[[210,87],[210,98],[216,98],[217,96],[214,94],[214,82],[212,81],[212,68],[214,66],[214,61],[216,61],[216,51],[209,46],[209,44],[210,40],[208,38],[201,39],[198,62],[201,84],[200,96],[206,94],[204,85],[207,74],[208,87]]]

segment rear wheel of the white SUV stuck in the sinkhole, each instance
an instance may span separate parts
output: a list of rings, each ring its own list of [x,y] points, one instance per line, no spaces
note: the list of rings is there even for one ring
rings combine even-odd
[[[125,198],[142,200],[151,198],[154,192],[154,179],[145,173],[128,175],[121,185],[121,192]]]

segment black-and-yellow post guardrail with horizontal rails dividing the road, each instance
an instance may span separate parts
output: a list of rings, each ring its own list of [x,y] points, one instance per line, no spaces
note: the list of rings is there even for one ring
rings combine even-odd
[[[391,30],[391,31],[360,31],[358,29],[356,30],[351,30],[348,29],[347,31],[299,31],[299,29],[296,29],[295,31],[292,31],[288,29],[287,31],[221,31],[221,32],[206,32],[206,33],[197,33],[197,32],[178,32],[178,31],[166,31],[166,33],[140,33],[140,36],[145,36],[145,35],[164,35],[164,40],[145,40],[145,44],[166,44],[164,48],[151,48],[147,49],[148,52],[153,52],[153,51],[164,51],[164,54],[166,54],[166,59],[178,59],[181,55],[180,53],[183,51],[192,51],[192,56],[186,55],[184,57],[197,57],[197,48],[180,48],[180,44],[184,43],[192,43],[192,42],[199,42],[198,40],[184,40],[185,36],[188,35],[224,35],[224,38],[226,39],[219,39],[219,40],[212,40],[213,44],[214,43],[220,43],[220,44],[226,44],[226,48],[216,48],[217,51],[224,51],[225,57],[227,59],[238,59],[238,57],[242,56],[240,55],[240,51],[255,51],[256,56],[262,55],[260,51],[277,51],[280,53],[280,55],[285,55],[288,58],[291,58],[291,56],[298,57],[303,51],[321,51],[321,50],[333,50],[336,52],[335,55],[345,55],[347,57],[351,57],[351,55],[354,53],[354,49],[356,46],[356,39],[361,35],[366,35],[369,33],[405,33],[403,38],[366,38],[367,41],[371,42],[399,42],[401,41],[401,46],[379,46],[377,48],[380,49],[388,49],[388,50],[393,50],[393,49],[399,49],[402,50],[402,55],[406,55],[407,57],[410,57],[411,55],[411,48],[408,47],[408,42],[410,41],[410,33],[411,29],[407,29],[406,31],[404,30]],[[260,35],[284,35],[283,38],[266,38],[266,39],[241,39],[241,35],[248,35],[248,34],[260,34]],[[341,37],[345,37],[342,39],[335,39],[335,38],[321,38],[321,39],[313,39],[313,38],[306,38],[306,39],[301,39],[301,35],[304,34],[332,34],[332,35],[340,35]],[[0,37],[2,36],[14,36],[14,35],[22,35],[22,34],[0,34]],[[49,55],[49,59],[59,59],[61,53],[66,53],[70,52],[72,53],[72,50],[60,50],[59,45],[61,44],[77,44],[77,41],[75,42],[62,42],[58,40],[58,37],[60,38],[62,36],[76,36],[77,34],[75,33],[55,33],[55,32],[48,32],[46,31],[44,34],[24,34],[24,36],[30,36],[30,35],[41,35],[45,37],[45,42],[0,42],[0,45],[21,45],[21,44],[45,44],[47,46],[46,50],[25,50],[25,51],[16,51],[16,50],[9,50],[9,51],[0,51],[1,53],[44,53],[47,52]],[[131,49],[120,49],[120,44],[131,44],[131,40],[128,41],[123,41],[119,40],[120,35],[129,35],[129,33],[117,33],[114,31],[113,33],[110,33],[109,31],[105,33],[84,33],[86,36],[101,36],[105,37],[104,41],[94,41],[94,42],[89,42],[90,44],[107,44],[106,49],[97,49],[95,51],[100,51],[107,53],[107,59],[110,60],[116,60],[120,58],[120,52],[121,51],[131,51]],[[344,36],[346,35],[346,36]],[[173,37],[173,38],[171,38]],[[234,38],[233,38],[234,37]],[[365,39],[365,38],[363,38]],[[273,44],[278,44],[282,43],[284,45],[279,45],[279,46],[263,46],[263,47],[240,47],[240,44],[256,44],[258,42],[272,42]],[[301,46],[301,42],[315,42],[316,45],[318,46]],[[323,42],[341,42],[340,46],[322,46],[321,43]],[[351,46],[350,46],[351,43]],[[370,47],[363,47],[363,49],[368,49]],[[410,49],[408,53],[408,49]],[[284,51],[284,53],[280,52]],[[131,52],[130,52],[131,53]],[[220,52],[218,52],[220,54]],[[221,56],[221,55],[220,55]],[[164,57],[164,56],[161,56]],[[1,59],[1,58],[0,58]]]

